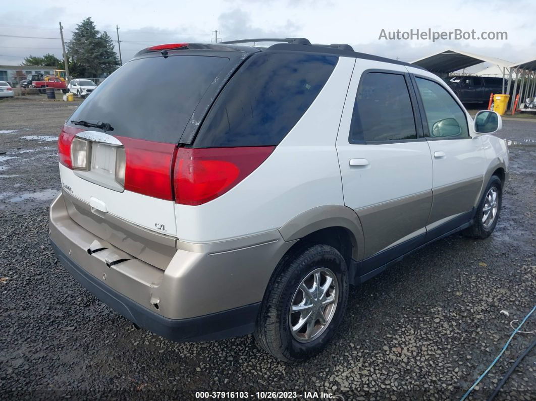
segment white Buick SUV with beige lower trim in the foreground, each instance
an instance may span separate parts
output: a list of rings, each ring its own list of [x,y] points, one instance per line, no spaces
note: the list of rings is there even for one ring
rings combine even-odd
[[[177,341],[254,333],[302,360],[333,336],[349,285],[453,232],[494,230],[500,116],[473,122],[414,65],[285,41],[142,50],[66,121],[52,245],[137,326]]]

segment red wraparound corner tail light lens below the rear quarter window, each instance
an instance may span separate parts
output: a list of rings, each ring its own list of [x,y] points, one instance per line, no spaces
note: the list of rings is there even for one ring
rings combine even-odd
[[[179,148],[173,177],[175,201],[195,206],[218,198],[249,176],[274,149]]]

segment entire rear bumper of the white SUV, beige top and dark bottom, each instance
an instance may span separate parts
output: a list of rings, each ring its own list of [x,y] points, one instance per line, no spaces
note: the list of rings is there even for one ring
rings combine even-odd
[[[115,311],[174,341],[251,333],[273,269],[294,243],[279,231],[210,244],[177,241],[167,267],[158,268],[88,231],[94,227],[73,220],[67,203],[59,194],[49,222],[50,241],[65,268]]]

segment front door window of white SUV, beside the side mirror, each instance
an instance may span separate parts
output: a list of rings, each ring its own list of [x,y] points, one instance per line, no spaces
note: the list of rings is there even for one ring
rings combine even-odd
[[[428,79],[415,77],[415,80],[425,107],[430,137],[468,137],[465,112],[446,89]]]

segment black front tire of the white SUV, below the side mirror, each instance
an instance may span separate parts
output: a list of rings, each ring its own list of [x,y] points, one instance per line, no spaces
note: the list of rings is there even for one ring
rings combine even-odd
[[[492,202],[492,209],[490,210],[490,213],[493,214],[492,220],[486,220],[484,221],[485,217],[485,207],[489,205],[489,196],[492,196],[493,199],[493,193],[496,193],[496,211],[493,213],[493,202]],[[488,201],[487,201],[488,200]],[[480,200],[480,203],[477,208],[477,214],[474,217],[474,223],[470,227],[466,228],[464,230],[464,235],[466,237],[470,238],[478,238],[478,239],[485,239],[488,238],[493,230],[495,230],[495,226],[497,225],[497,221],[499,219],[499,215],[501,214],[501,205],[502,205],[502,181],[497,176],[492,176],[492,178],[489,180],[488,186],[486,187],[486,190],[484,191],[482,195],[482,199]],[[489,215],[488,215],[489,218]]]

